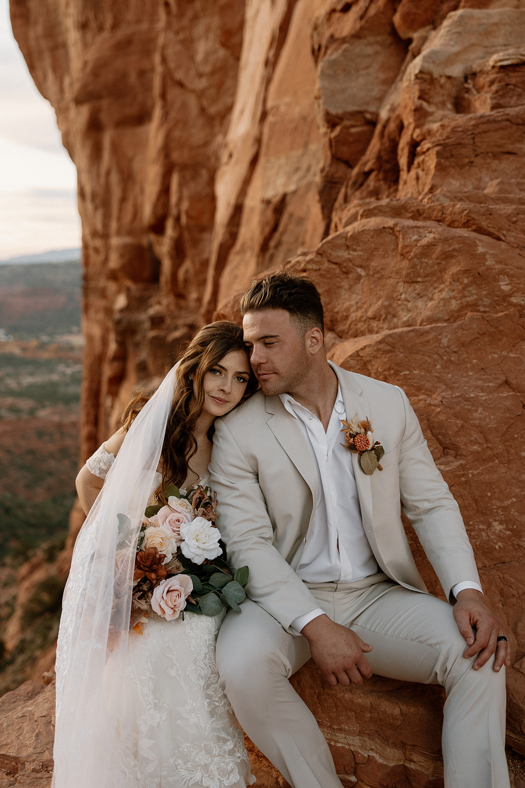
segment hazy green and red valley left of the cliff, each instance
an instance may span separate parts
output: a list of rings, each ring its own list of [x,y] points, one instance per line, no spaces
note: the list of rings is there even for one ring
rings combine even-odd
[[[53,663],[65,582],[54,560],[76,499],[81,279],[78,260],[0,265],[0,695],[39,678],[49,650]]]

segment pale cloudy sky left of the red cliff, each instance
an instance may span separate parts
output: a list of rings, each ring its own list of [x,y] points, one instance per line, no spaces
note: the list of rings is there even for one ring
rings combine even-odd
[[[0,0],[0,260],[80,246],[76,169]]]

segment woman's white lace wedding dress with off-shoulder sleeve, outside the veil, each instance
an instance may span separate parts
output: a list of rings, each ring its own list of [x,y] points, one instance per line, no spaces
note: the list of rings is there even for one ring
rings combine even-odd
[[[98,449],[88,461],[91,472],[103,478],[113,459]],[[242,730],[218,683],[215,641],[223,615],[150,619],[142,634],[130,632],[124,704],[104,788],[245,788],[255,782]]]

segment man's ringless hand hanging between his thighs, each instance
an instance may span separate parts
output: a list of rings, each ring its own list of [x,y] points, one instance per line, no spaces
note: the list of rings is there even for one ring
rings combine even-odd
[[[303,626],[301,634],[309,641],[312,660],[332,686],[362,684],[364,678],[371,678],[372,667],[364,654],[372,651],[372,646],[346,626],[318,615]]]

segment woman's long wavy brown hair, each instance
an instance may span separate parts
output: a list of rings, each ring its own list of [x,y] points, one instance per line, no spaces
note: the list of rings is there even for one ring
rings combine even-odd
[[[205,325],[190,341],[179,359],[176,370],[176,384],[172,409],[166,423],[164,444],[162,445],[162,481],[155,496],[162,504],[166,503],[164,490],[169,485],[180,486],[187,478],[190,459],[197,451],[195,426],[204,405],[203,380],[205,374],[218,364],[224,356],[234,350],[246,353],[250,378],[242,400],[246,400],[257,390],[257,378],[253,374],[248,359],[246,345],[242,340],[242,329],[227,320],[218,320]],[[194,388],[197,392],[192,402]],[[138,392],[131,398],[122,414],[122,426],[128,430],[142,407],[151,395]],[[212,425],[208,437],[213,439]]]

